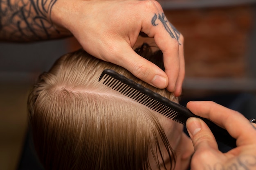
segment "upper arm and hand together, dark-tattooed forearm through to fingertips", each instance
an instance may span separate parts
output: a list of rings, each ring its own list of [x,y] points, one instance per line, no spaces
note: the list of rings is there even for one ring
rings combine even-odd
[[[152,0],[2,0],[0,40],[38,41],[74,36],[93,56],[120,65],[147,83],[180,96],[182,35]],[[164,53],[165,71],[132,49],[139,33]]]

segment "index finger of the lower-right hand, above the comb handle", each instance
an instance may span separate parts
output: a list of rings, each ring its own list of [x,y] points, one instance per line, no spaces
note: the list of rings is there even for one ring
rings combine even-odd
[[[237,139],[237,145],[256,142],[256,130],[252,124],[239,112],[223,107],[215,102],[188,102],[187,108],[194,114],[207,118],[227,129],[229,134]],[[250,135],[248,135],[248,133]]]

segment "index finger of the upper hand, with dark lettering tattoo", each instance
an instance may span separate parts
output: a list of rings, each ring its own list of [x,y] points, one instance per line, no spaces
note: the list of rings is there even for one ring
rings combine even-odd
[[[157,10],[154,11],[155,13],[152,13],[151,23],[142,23],[141,31],[149,37],[154,37],[155,43],[163,52],[165,73],[169,80],[167,89],[170,92],[174,92],[175,96],[179,96],[185,74],[184,40],[182,35],[168,22],[161,5],[156,1],[152,2]]]

